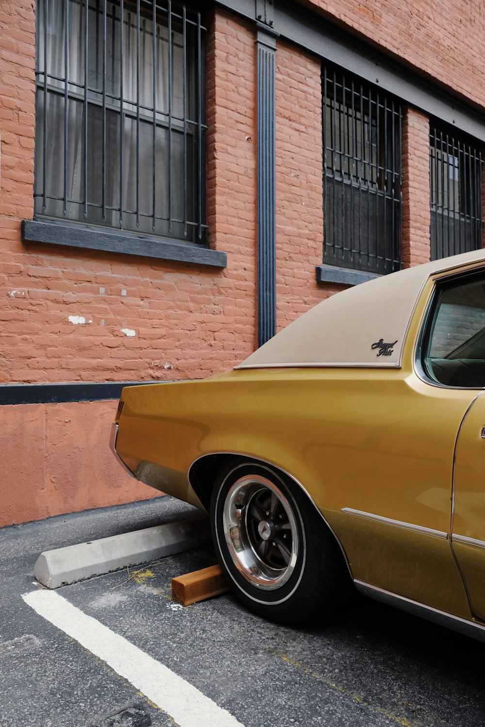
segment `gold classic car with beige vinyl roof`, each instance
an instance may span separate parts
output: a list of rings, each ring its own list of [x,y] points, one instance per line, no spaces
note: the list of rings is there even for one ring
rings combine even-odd
[[[338,293],[228,373],[124,388],[111,445],[210,513],[258,614],[321,617],[355,586],[485,638],[484,387],[477,251]]]

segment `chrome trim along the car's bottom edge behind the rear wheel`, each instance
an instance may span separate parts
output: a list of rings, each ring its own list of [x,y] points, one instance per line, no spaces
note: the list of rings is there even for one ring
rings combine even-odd
[[[433,608],[433,606],[426,606],[425,603],[419,603],[419,601],[412,601],[411,598],[406,598],[397,593],[391,593],[390,591],[386,591],[370,583],[365,583],[364,581],[354,579],[353,582],[360,593],[366,595],[368,598],[374,598],[374,601],[381,601],[388,606],[395,606],[396,608],[400,608],[401,611],[407,611],[408,614],[420,616],[440,626],[446,626],[466,636],[471,636],[471,638],[485,641],[484,624],[463,619],[461,616],[448,614],[446,611],[440,611],[438,608]]]

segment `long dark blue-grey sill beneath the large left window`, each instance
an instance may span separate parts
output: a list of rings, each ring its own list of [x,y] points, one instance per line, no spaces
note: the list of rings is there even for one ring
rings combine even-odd
[[[22,239],[24,242],[44,242],[50,245],[154,257],[158,260],[193,262],[214,268],[225,268],[228,264],[225,252],[183,241],[164,237],[129,236],[45,220],[23,220]]]

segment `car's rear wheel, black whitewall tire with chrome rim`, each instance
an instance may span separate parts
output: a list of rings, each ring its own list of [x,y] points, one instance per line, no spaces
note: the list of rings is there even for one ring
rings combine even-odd
[[[353,590],[342,551],[316,508],[268,465],[239,459],[220,472],[211,524],[234,593],[271,621],[316,619]]]

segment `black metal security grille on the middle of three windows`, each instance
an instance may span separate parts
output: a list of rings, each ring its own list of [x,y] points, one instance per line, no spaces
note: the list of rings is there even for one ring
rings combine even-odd
[[[324,262],[372,273],[401,267],[401,107],[324,68]]]

